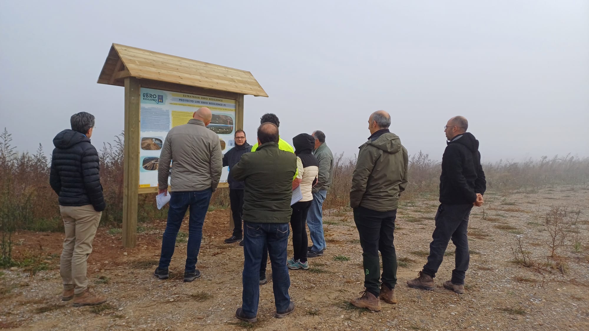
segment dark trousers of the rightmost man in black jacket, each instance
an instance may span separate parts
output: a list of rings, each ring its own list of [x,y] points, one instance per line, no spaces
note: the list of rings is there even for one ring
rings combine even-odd
[[[435,277],[449,241],[456,246],[454,261],[455,267],[452,270],[451,282],[464,284],[466,270],[470,253],[468,251],[468,217],[471,214],[472,204],[445,204],[438,207],[436,213],[436,229],[432,234],[432,242],[429,244],[428,263],[423,266],[423,273]]]

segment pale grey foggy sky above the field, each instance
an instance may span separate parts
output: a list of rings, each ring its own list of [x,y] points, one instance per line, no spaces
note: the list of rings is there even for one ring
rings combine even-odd
[[[484,161],[589,156],[588,1],[0,2],[0,130],[46,153],[78,111],[98,148],[123,130],[124,88],[97,84],[111,44],[251,71],[244,129],[322,130],[352,156],[391,114],[409,154],[441,160],[464,115]]]

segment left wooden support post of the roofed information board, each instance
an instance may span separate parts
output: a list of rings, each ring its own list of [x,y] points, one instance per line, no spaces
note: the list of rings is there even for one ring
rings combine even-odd
[[[123,247],[137,244],[137,195],[139,188],[140,86],[135,77],[125,78],[125,149],[123,167]]]

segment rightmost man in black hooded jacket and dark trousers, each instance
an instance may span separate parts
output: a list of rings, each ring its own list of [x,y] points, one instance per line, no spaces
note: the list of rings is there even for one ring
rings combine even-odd
[[[479,142],[466,132],[467,129],[468,121],[462,116],[452,117],[444,128],[448,146],[442,157],[440,205],[435,216],[433,240],[429,244],[428,263],[416,279],[407,281],[408,286],[416,289],[434,290],[434,277],[452,239],[456,246],[456,266],[452,270],[452,279],[444,282],[444,287],[464,293],[464,277],[470,258],[466,237],[468,217],[472,206],[482,206],[482,195],[487,189]]]

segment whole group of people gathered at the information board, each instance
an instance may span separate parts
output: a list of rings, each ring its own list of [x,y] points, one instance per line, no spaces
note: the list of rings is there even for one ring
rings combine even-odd
[[[154,276],[169,277],[168,266],[176,237],[188,208],[188,243],[184,282],[200,277],[196,268],[202,227],[211,194],[217,189],[221,169],[229,167],[229,197],[233,233],[227,244],[243,246],[242,304],[236,317],[256,322],[259,287],[267,283],[268,257],[272,267],[276,317],[293,312],[289,296],[290,270],[309,269],[308,259],[323,255],[326,249],[322,224],[322,204],[333,181],[333,154],[322,131],[302,133],[293,144],[280,138],[279,119],[264,114],[257,129],[257,143],[247,143],[243,130],[235,131],[235,147],[221,155],[219,137],[206,126],[211,111],[199,108],[187,124],[172,128],[161,149],[158,192],[171,194],[161,256]],[[365,274],[365,291],[352,299],[358,307],[381,309],[380,300],[396,303],[396,253],[394,240],[399,197],[408,183],[408,153],[401,139],[389,131],[391,117],[385,111],[370,115],[370,137],[359,147],[353,172],[350,207],[360,237]],[[94,116],[80,112],[71,117],[71,130],[54,138],[51,161],[51,187],[59,196],[65,224],[61,255],[62,300],[73,299],[75,306],[100,304],[106,297],[88,290],[86,260],[104,210],[98,176],[98,154],[90,144]],[[468,130],[468,121],[452,117],[444,131],[448,146],[442,157],[440,205],[435,216],[428,261],[410,287],[433,290],[434,277],[442,263],[449,241],[456,246],[452,279],[446,289],[464,293],[469,251],[466,229],[473,206],[481,206],[486,190],[478,140]],[[294,148],[293,148],[294,147]],[[171,188],[168,193],[168,171]],[[293,201],[293,191],[300,197]],[[290,223],[290,227],[289,227]],[[312,244],[309,245],[306,227]],[[293,256],[287,256],[292,229]],[[378,253],[382,256],[382,274]]]

